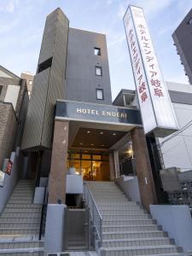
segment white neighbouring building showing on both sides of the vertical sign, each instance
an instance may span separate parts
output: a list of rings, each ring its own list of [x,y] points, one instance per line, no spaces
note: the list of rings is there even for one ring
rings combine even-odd
[[[177,167],[182,172],[192,170],[192,88],[190,84],[166,82],[179,130],[169,137],[159,138],[161,166]],[[139,108],[135,90],[121,90],[114,105]]]

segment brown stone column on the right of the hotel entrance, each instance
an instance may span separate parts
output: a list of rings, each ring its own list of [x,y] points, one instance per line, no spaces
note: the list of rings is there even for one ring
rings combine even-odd
[[[154,189],[154,178],[152,175],[148,148],[143,128],[135,128],[131,131],[134,155],[136,158],[137,179],[143,207],[149,212],[149,205],[157,203]]]

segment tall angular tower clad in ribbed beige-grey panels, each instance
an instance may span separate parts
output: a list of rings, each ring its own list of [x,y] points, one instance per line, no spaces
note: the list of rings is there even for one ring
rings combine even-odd
[[[51,148],[56,99],[64,98],[68,20],[55,9],[46,20],[38,65],[52,57],[52,65],[33,82],[22,149]]]

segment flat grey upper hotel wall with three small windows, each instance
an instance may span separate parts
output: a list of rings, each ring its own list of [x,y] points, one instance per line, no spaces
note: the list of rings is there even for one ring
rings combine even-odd
[[[101,55],[94,55],[94,47]],[[96,76],[95,67],[102,67]],[[96,100],[96,88],[103,89],[104,100]],[[112,104],[106,37],[95,32],[70,28],[67,52],[67,100]]]

